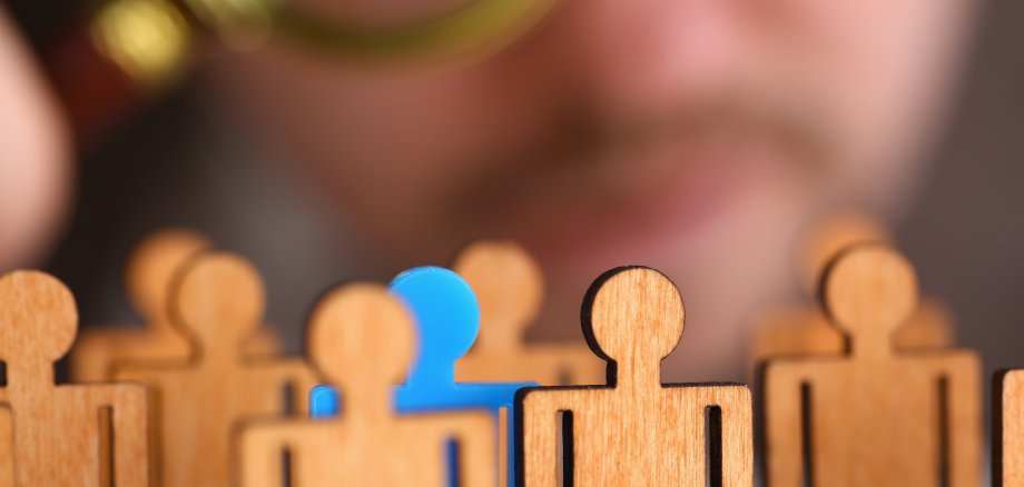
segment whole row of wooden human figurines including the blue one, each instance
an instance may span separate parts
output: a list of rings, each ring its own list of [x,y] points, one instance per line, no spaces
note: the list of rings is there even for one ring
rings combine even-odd
[[[77,328],[73,298],[41,272],[0,279],[0,358],[8,368],[0,438],[10,439],[0,441],[10,446],[0,451],[0,483],[752,485],[747,387],[659,379],[685,311],[676,286],[653,269],[612,269],[585,295],[582,329],[607,364],[607,381],[465,384],[455,380],[455,362],[473,345],[481,317],[499,312],[506,327],[521,329],[535,308],[539,290],[520,287],[508,302],[477,301],[473,292],[490,289],[489,281],[530,280],[514,246],[476,246],[454,266],[467,279],[417,268],[387,289],[352,284],[331,291],[311,315],[307,362],[275,356],[275,340],[260,334],[263,285],[248,262],[185,251],[188,233],[173,235],[175,245],[167,237],[142,246],[136,259],[148,270],[130,266],[128,276],[136,302],[166,322],[87,334],[71,360],[79,377],[92,365],[100,379],[141,387],[55,385],[52,362]],[[976,485],[977,358],[948,349],[895,352],[890,344],[917,306],[909,264],[884,245],[851,246],[827,266],[820,295],[849,347],[760,369],[769,485]],[[479,368],[501,369],[495,374],[533,366],[560,369],[551,374],[561,378],[585,374],[569,350],[544,351],[519,365],[496,351],[474,359]],[[996,454],[1007,455],[996,458],[1012,483],[1020,476],[1014,458],[1024,451],[1014,443],[1020,387],[1016,372],[1001,377],[994,436]],[[328,386],[305,394],[317,382]],[[275,419],[288,409],[312,417]]]

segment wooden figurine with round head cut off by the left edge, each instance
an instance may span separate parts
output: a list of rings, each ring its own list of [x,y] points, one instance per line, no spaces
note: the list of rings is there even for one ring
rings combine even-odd
[[[145,389],[53,382],[53,362],[71,348],[77,328],[75,298],[53,277],[16,271],[0,278],[0,359],[7,364],[0,429],[4,448],[12,441],[14,485],[145,487]]]

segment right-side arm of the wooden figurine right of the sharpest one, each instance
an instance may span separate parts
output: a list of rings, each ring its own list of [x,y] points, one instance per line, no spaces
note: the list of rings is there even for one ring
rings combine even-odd
[[[981,362],[974,354],[957,354],[943,361],[941,375],[946,384],[949,486],[974,486],[982,476]]]

